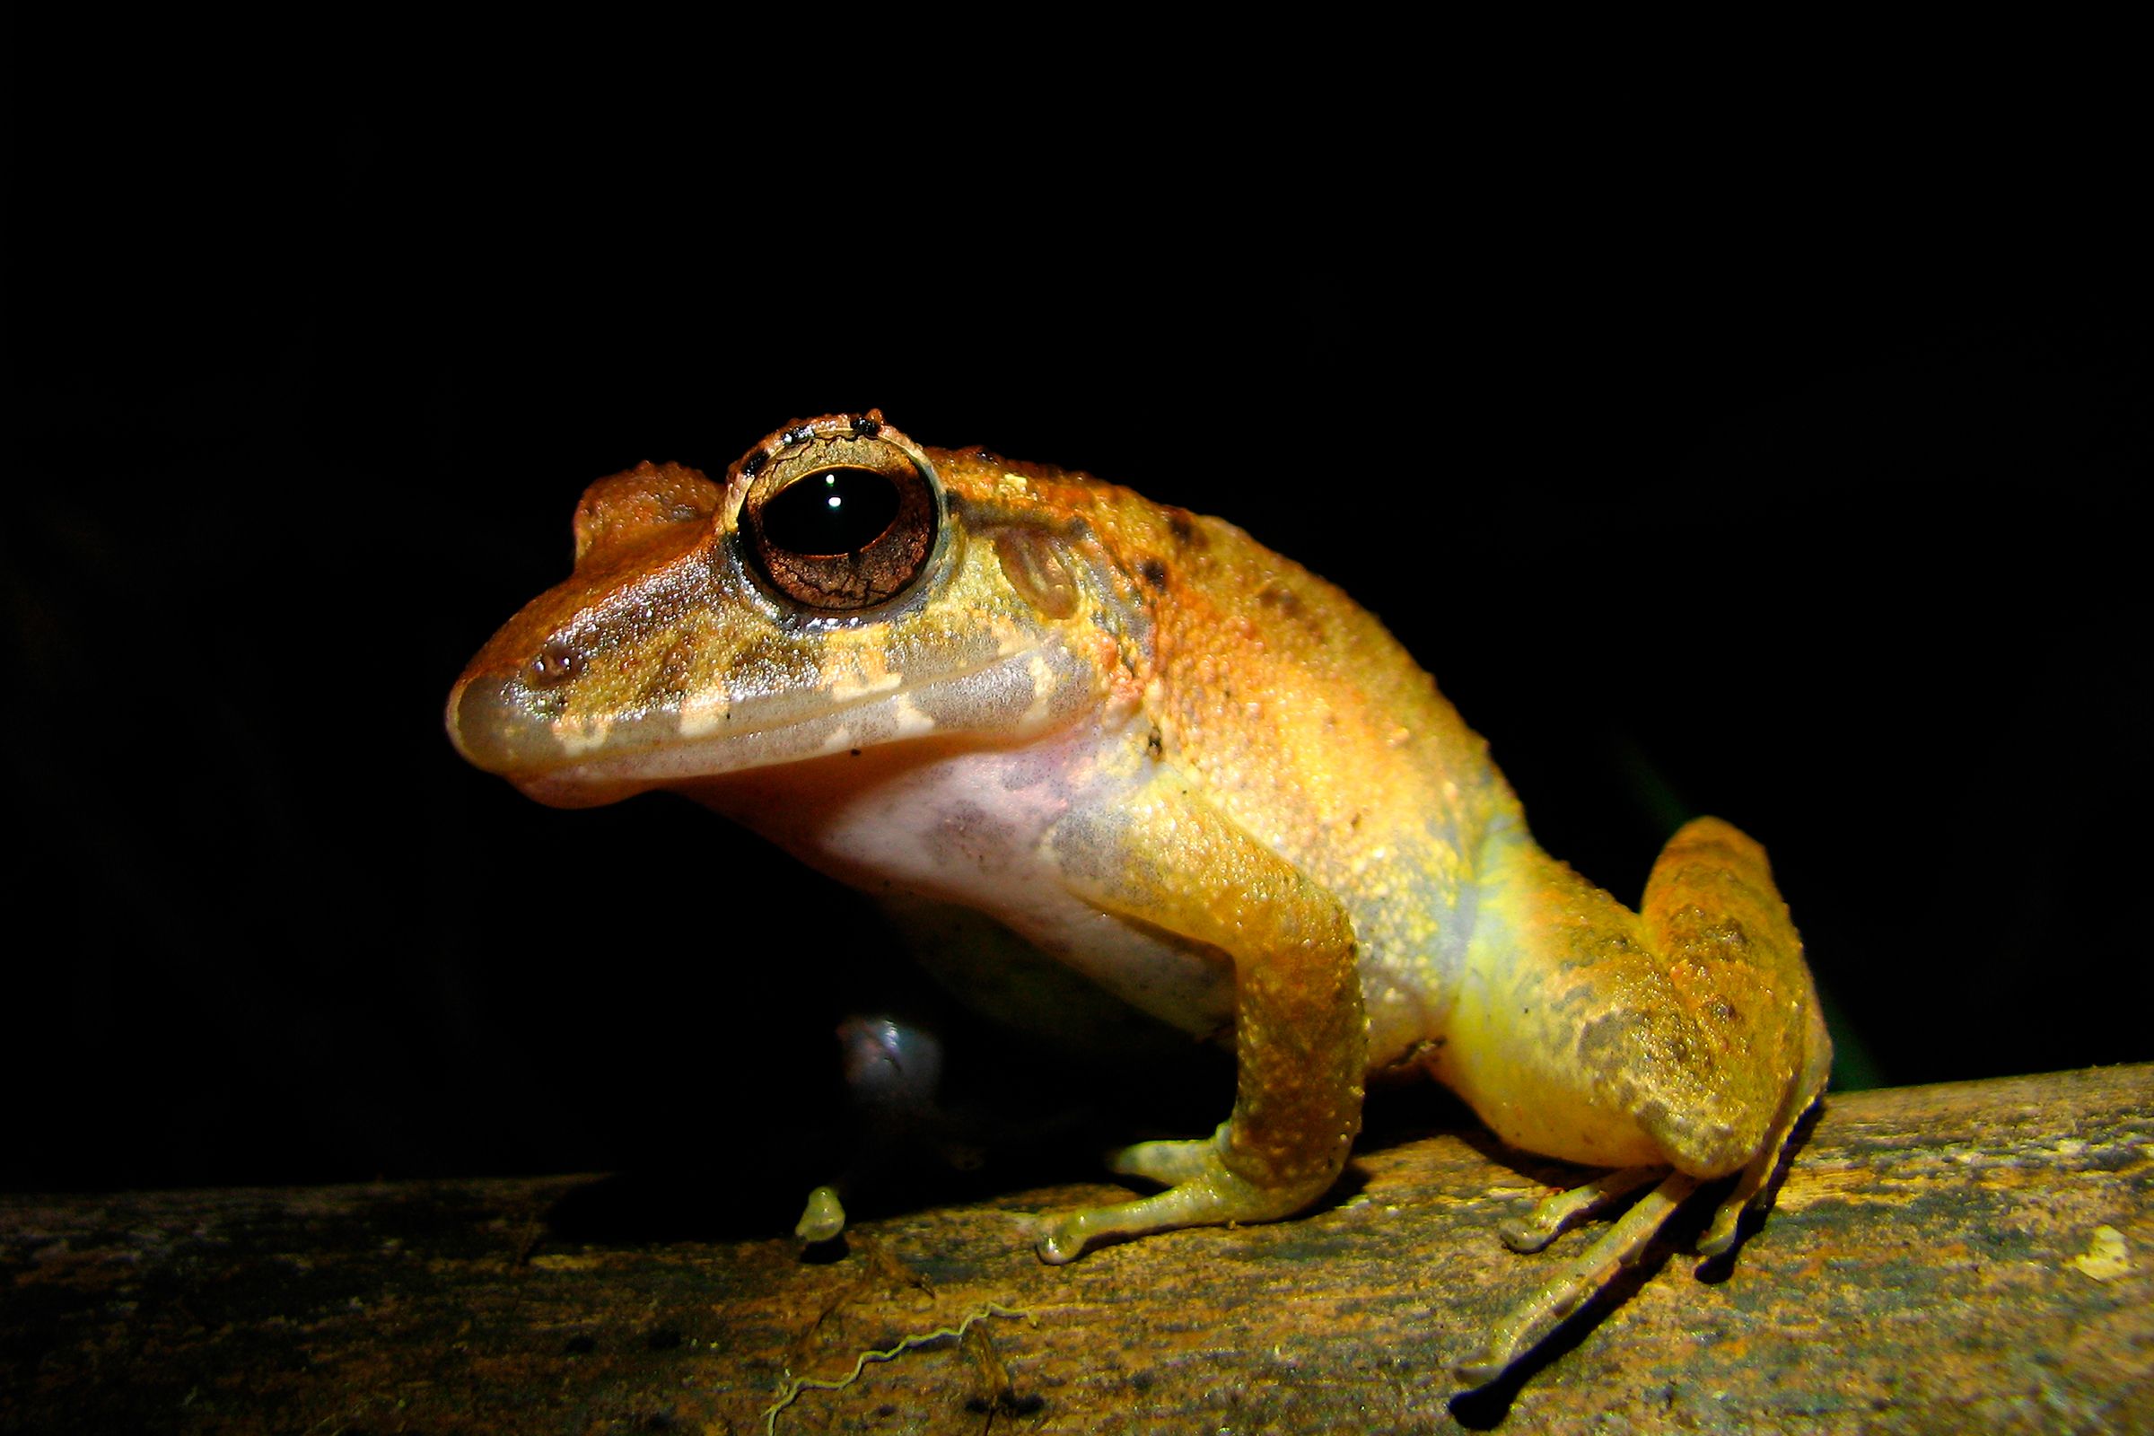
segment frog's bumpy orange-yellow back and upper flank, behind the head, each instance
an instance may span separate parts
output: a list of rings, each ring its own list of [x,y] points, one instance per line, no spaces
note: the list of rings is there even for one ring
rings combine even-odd
[[[1122,575],[1161,756],[1353,915],[1372,1066],[1437,1033],[1478,855],[1525,827],[1428,672],[1338,586],[1232,523],[965,450],[937,465],[967,497],[1021,476]]]

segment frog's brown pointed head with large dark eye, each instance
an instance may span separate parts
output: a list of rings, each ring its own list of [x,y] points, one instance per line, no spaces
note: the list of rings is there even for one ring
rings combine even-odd
[[[1032,471],[1062,484],[1068,476]],[[941,736],[1019,743],[1142,646],[1086,521],[984,454],[825,416],[724,484],[644,463],[575,512],[575,573],[448,698],[470,762],[562,807]]]

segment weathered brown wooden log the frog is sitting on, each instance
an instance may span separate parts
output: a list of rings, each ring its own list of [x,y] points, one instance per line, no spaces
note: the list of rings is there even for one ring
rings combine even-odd
[[[1062,1268],[1012,1214],[1114,1188],[866,1223],[834,1259],[597,1236],[599,1178],[0,1197],[0,1432],[760,1432],[788,1371],[991,1307],[1025,1315],[778,1430],[2154,1430],[2154,1066],[1833,1096],[1732,1264],[1663,1242],[1463,1395],[1450,1365],[1592,1234],[1521,1257],[1497,1219],[1575,1178],[1413,1137],[1303,1219]]]

